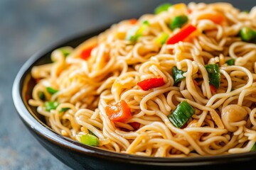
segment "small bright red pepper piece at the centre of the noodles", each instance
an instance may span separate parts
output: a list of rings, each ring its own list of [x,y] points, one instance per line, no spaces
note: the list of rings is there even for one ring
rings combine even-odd
[[[164,86],[164,78],[163,77],[152,77],[149,79],[144,79],[142,81],[137,82],[137,85],[142,88],[142,90],[147,91],[149,89]]]

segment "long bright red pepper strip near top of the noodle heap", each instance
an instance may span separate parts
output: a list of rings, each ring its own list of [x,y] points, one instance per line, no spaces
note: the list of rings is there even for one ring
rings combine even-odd
[[[181,28],[181,30],[176,33],[175,35],[171,36],[166,44],[175,44],[176,42],[182,41],[185,38],[188,37],[191,33],[193,33],[196,30],[196,27],[192,26],[191,24],[188,24]]]

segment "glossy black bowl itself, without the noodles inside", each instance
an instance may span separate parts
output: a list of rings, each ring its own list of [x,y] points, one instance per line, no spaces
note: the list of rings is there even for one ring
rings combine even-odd
[[[256,152],[243,154],[226,154],[206,157],[188,158],[158,158],[139,157],[131,154],[108,152],[97,147],[82,145],[80,142],[63,137],[46,125],[43,116],[36,112],[36,108],[28,105],[35,81],[31,78],[31,68],[35,65],[50,62],[50,53],[58,47],[76,47],[84,40],[98,35],[109,26],[94,30],[90,33],[75,35],[68,40],[51,45],[45,50],[33,55],[16,75],[13,85],[13,100],[16,111],[28,130],[38,142],[61,162],[73,169],[223,169],[223,167],[253,169],[256,162]]]

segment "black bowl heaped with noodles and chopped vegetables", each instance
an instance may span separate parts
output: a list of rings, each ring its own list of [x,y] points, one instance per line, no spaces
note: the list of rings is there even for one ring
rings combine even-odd
[[[256,160],[256,7],[162,4],[38,52],[13,98],[74,169],[249,166]]]

